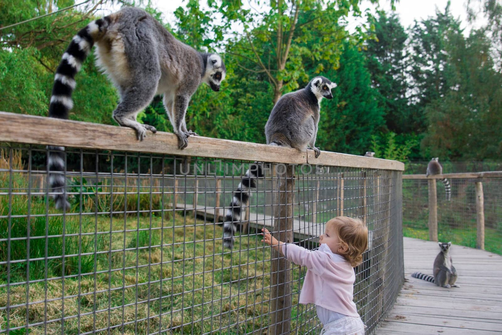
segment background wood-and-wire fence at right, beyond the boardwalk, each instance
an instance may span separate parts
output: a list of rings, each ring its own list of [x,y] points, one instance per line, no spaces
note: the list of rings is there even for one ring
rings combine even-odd
[[[502,172],[404,175],[403,180],[405,236],[502,254]]]

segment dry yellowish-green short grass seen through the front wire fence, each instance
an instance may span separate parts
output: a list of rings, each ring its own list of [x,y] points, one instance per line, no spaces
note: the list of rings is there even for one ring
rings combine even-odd
[[[140,225],[138,226],[138,222]],[[194,225],[196,223],[196,225]],[[84,274],[76,278],[64,280],[65,296],[64,315],[78,313],[89,315],[71,317],[64,322],[65,333],[77,333],[105,328],[125,322],[165,313],[162,318],[155,316],[117,327],[111,333],[147,333],[153,329],[169,329],[175,327],[174,334],[201,333],[218,331],[220,326],[237,321],[246,322],[224,328],[224,333],[253,331],[267,326],[269,320],[270,294],[270,249],[257,248],[263,246],[261,237],[245,235],[237,237],[237,246],[232,253],[223,251],[220,241],[214,241],[222,235],[220,227],[194,221],[193,217],[185,219],[176,216],[176,220],[164,221],[153,218],[153,230],[150,220],[145,218],[128,218],[127,220],[101,217],[97,221],[97,230],[108,232],[102,235],[99,251],[104,255],[96,257],[93,271],[105,271],[94,275]],[[131,232],[123,233],[124,227]],[[138,229],[139,227],[139,229]],[[94,224],[92,230],[94,230]],[[122,230],[122,232],[120,232]],[[185,233],[184,233],[185,232]],[[175,243],[172,243],[172,241]],[[111,244],[110,244],[111,240]],[[160,242],[164,246],[160,246]],[[197,241],[197,242],[194,242]],[[205,241],[201,242],[201,241]],[[150,244],[151,243],[151,244]],[[123,251],[126,249],[133,250]],[[134,250],[139,247],[139,250]],[[122,249],[122,250],[121,250]],[[249,250],[248,250],[249,249]],[[111,250],[111,252],[110,252]],[[217,255],[214,255],[214,254]],[[162,261],[164,264],[156,264]],[[255,264],[256,263],[256,264]],[[156,265],[149,265],[156,264]],[[123,270],[125,267],[133,267]],[[231,266],[230,266],[231,265]],[[94,268],[95,266],[95,268]],[[136,269],[136,267],[139,267]],[[57,274],[57,271],[49,271]],[[78,273],[78,271],[77,271]],[[81,271],[80,273],[83,273]],[[51,277],[51,275],[49,275]],[[150,282],[150,283],[149,283]],[[152,283],[154,282],[154,283]],[[5,283],[5,281],[0,281]],[[162,285],[161,285],[162,283]],[[47,303],[47,318],[58,319],[63,315],[61,299],[63,281],[52,279],[47,287],[44,282],[30,283],[30,301],[38,302],[29,306],[30,323],[43,322],[46,299],[56,299]],[[130,286],[122,289],[122,286]],[[109,291],[109,289],[118,288]],[[299,287],[297,286],[296,289]],[[47,293],[46,293],[47,290]],[[195,291],[193,291],[195,290]],[[88,294],[96,291],[96,294]],[[26,284],[12,285],[10,288],[10,305],[26,304]],[[80,292],[80,296],[79,296]],[[162,302],[159,298],[162,297]],[[293,295],[293,305],[297,303],[298,294]],[[147,300],[151,301],[148,302]],[[136,308],[136,303],[138,308]],[[109,307],[128,305],[108,311]],[[7,289],[0,288],[0,306],[7,305]],[[92,311],[96,312],[94,318]],[[293,308],[293,314],[298,311]],[[10,327],[26,324],[26,305],[15,307],[10,311]],[[202,317],[207,318],[204,322]],[[0,329],[6,327],[6,311],[0,311]],[[199,320],[191,323],[191,320]],[[295,326],[297,319],[292,320]],[[79,324],[80,323],[80,324]],[[47,324],[48,333],[62,331],[60,321]],[[22,331],[22,330],[21,330]],[[44,326],[30,327],[31,334],[44,333]],[[105,333],[106,331],[103,331]]]

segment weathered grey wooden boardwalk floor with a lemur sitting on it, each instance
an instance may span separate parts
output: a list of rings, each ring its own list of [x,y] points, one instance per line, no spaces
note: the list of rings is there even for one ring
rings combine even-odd
[[[404,238],[406,280],[375,335],[502,333],[502,256],[453,245],[459,288],[411,276],[415,271],[432,274],[438,252],[436,242]]]

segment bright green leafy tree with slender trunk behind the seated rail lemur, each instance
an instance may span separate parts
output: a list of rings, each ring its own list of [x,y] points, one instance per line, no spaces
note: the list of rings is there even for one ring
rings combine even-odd
[[[264,6],[259,1],[252,2],[250,10],[239,2],[223,1],[219,11],[227,25],[243,29],[230,40],[227,52],[240,68],[266,77],[275,103],[307,79],[305,58],[329,60],[336,68],[344,41],[357,44],[368,38],[369,24],[356,27],[353,34],[345,28],[345,18],[362,15],[359,4],[360,0],[278,0],[258,11]]]

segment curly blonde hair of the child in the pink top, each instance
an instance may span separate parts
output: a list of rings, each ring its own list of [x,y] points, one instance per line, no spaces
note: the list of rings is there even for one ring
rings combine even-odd
[[[362,253],[368,247],[368,228],[360,219],[337,216],[326,223],[332,227],[340,239],[339,253],[352,267],[362,263]]]

